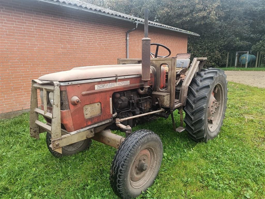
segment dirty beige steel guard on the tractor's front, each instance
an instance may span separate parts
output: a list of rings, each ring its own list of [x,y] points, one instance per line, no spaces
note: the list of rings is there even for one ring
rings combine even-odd
[[[43,90],[43,110],[38,108],[37,90]],[[47,94],[53,92],[52,113],[47,112]],[[51,125],[38,120],[39,114],[51,119]],[[51,134],[51,149],[62,153],[62,147],[94,136],[94,128],[67,132],[61,129],[60,84],[58,81],[32,80],[30,98],[30,136],[39,139],[39,134]]]

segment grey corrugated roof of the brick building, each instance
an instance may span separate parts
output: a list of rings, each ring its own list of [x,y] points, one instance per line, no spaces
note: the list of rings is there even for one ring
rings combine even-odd
[[[138,17],[134,17],[134,16],[130,16],[127,14],[123,14],[121,12],[116,12],[114,10],[109,10],[107,8],[103,8],[103,7],[99,7],[99,6],[95,6],[93,4],[90,3],[86,3],[86,2],[81,2],[81,1],[77,1],[77,0],[42,0],[45,2],[54,2],[54,3],[60,3],[60,4],[65,4],[65,5],[69,5],[69,6],[74,6],[74,7],[79,7],[82,9],[86,9],[86,10],[91,10],[94,12],[99,12],[99,13],[104,13],[106,14],[106,16],[116,16],[117,18],[122,18],[122,19],[127,19],[130,21],[138,21],[139,23],[144,23],[144,19],[138,18]],[[148,23],[154,27],[158,27],[158,28],[164,28],[164,29],[170,29],[172,31],[176,31],[176,32],[182,32],[184,34],[190,34],[193,36],[200,36],[197,33],[194,32],[190,32],[190,31],[186,31],[180,28],[175,28],[169,25],[164,25],[164,24],[160,24],[160,23],[156,23],[154,21],[148,21]]]

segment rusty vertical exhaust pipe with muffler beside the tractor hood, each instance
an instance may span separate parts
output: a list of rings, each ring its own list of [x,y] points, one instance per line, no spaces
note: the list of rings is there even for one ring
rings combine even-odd
[[[148,38],[148,9],[144,9],[144,38],[142,38],[142,81],[144,90],[137,89],[139,94],[145,94],[148,89],[147,82],[150,80],[150,47],[151,39]]]

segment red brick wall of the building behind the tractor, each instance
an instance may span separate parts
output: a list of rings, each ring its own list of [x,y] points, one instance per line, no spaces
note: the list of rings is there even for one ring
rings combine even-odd
[[[131,23],[37,1],[0,3],[0,114],[29,108],[32,79],[126,58],[126,32],[134,27]],[[142,25],[130,33],[130,58],[141,57],[142,37]],[[151,42],[168,46],[173,56],[187,52],[184,34],[149,28],[149,37]]]

